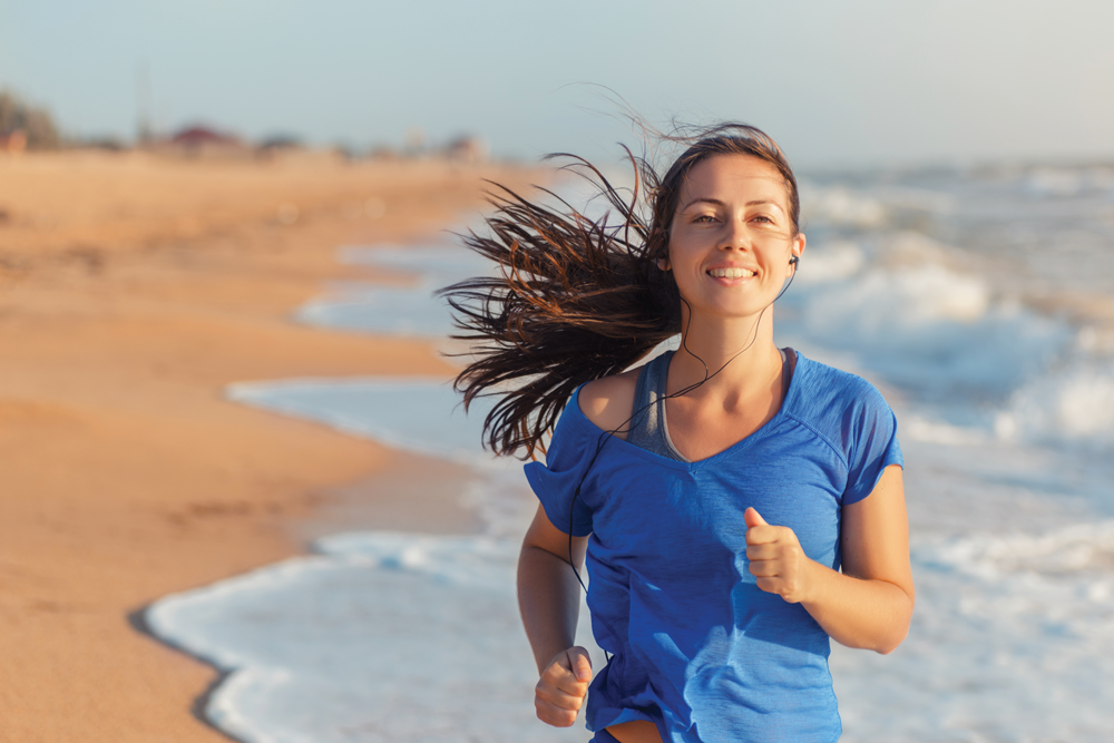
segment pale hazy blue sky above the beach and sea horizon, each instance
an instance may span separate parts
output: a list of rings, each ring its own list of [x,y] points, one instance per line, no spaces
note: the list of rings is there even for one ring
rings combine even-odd
[[[63,131],[155,125],[497,156],[744,120],[797,165],[1114,158],[1108,0],[0,0],[0,88]]]

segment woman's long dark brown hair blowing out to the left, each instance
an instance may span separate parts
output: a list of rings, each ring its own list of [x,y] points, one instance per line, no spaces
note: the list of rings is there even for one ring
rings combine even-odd
[[[714,155],[750,155],[773,165],[785,179],[793,233],[799,229],[797,179],[776,143],[745,124],[721,124],[695,136],[662,138],[690,145],[658,177],[647,157],[624,147],[634,186],[616,188],[587,160],[564,169],[588,180],[608,212],[589,219],[559,202],[549,207],[492,184],[495,213],[487,232],[463,243],[494,261],[494,277],[473,277],[440,290],[475,359],[457,377],[465,409],[479,397],[499,401],[483,421],[485,443],[498,454],[545,451],[543,437],[577,387],[616,374],[681,332],[681,296],[673,274],[658,268],[668,257],[670,228],[690,170]]]

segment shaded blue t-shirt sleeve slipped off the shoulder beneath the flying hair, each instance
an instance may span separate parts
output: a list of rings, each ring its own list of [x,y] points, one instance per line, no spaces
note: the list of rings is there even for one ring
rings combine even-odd
[[[526,479],[553,525],[574,537],[586,537],[592,534],[592,509],[585,504],[583,492],[574,495],[592,459],[589,447],[596,442],[588,421],[579,420],[584,414],[577,404],[574,394],[554,429],[546,463],[529,462],[525,469]]]

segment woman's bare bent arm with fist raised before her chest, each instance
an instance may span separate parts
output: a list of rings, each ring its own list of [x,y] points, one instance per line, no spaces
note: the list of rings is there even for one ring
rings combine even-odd
[[[746,557],[762,590],[801,604],[832,638],[892,653],[909,633],[913,585],[901,468],[883,470],[862,500],[843,507],[843,571],[810,559],[792,529],[746,509]]]

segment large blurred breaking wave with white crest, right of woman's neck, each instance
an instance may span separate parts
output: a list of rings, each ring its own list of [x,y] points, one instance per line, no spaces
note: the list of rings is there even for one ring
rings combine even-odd
[[[791,332],[852,351],[859,366],[935,401],[1000,404],[1071,338],[1064,323],[996,300],[980,276],[936,262],[877,264],[803,289]]]

